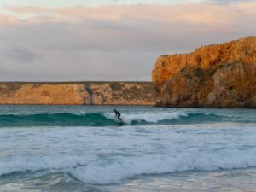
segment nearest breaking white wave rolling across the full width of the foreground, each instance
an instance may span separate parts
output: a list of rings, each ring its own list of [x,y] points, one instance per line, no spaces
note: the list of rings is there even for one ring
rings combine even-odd
[[[219,171],[256,166],[256,150],[224,153],[182,153],[169,155],[118,156],[105,160],[88,160],[85,156],[21,158],[0,164],[0,176],[17,172],[67,172],[89,184],[120,183],[140,175],[174,172]]]

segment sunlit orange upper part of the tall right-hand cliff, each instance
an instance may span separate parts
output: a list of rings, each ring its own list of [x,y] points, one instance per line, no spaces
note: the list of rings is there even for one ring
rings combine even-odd
[[[163,84],[185,67],[218,67],[241,61],[256,63],[256,36],[239,38],[224,44],[212,44],[195,49],[192,53],[158,57],[152,79],[154,85]]]

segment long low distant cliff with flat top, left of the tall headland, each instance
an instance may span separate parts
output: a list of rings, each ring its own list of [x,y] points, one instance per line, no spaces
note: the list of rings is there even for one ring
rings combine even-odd
[[[151,83],[0,83],[0,104],[154,105]]]

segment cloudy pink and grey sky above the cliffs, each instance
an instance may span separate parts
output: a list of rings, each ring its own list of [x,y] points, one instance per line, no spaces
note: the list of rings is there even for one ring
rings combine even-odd
[[[255,23],[256,0],[0,0],[0,81],[150,81],[158,56]]]

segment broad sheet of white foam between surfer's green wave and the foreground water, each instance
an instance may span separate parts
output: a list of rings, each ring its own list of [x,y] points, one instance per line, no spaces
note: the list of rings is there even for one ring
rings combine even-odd
[[[118,183],[141,174],[256,166],[256,130],[255,124],[0,129],[0,152],[0,175],[46,170],[84,183]]]

